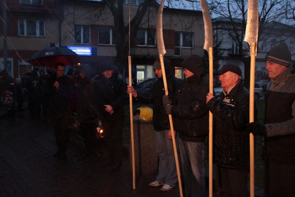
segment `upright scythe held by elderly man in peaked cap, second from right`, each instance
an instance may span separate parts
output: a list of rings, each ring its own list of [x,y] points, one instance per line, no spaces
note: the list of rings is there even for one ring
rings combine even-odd
[[[209,92],[213,94],[213,29],[206,0],[200,0],[205,30],[204,49],[209,55]],[[209,197],[213,195],[213,115],[209,111]]]

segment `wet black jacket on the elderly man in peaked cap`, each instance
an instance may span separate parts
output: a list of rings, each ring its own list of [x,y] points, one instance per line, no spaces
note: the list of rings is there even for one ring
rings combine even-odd
[[[249,97],[249,90],[239,82],[227,95],[222,92],[208,101],[214,117],[214,159],[219,166],[249,169]]]

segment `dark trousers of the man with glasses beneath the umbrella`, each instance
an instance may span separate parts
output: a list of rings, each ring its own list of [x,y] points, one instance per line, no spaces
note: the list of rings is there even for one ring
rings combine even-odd
[[[50,118],[54,128],[54,135],[58,150],[65,152],[69,140],[69,117]]]

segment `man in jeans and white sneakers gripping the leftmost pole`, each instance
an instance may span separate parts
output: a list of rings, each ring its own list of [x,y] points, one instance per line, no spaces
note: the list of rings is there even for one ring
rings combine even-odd
[[[164,67],[168,93],[175,95],[183,80],[174,76],[174,71],[169,60],[164,58]],[[156,139],[156,149],[159,157],[159,172],[151,187],[161,187],[161,191],[171,191],[177,185],[177,171],[172,141],[167,138],[170,124],[169,117],[165,113],[162,97],[165,95],[162,69],[159,59],[153,64],[153,69],[158,79],[152,84],[146,93],[137,93],[132,86],[127,86],[127,93],[132,93],[135,99],[142,103],[153,103],[153,127]]]

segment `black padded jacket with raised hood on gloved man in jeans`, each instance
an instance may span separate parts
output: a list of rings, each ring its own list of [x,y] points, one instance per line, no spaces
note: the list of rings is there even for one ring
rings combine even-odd
[[[209,110],[206,95],[209,79],[194,74],[186,79],[175,94],[171,115],[180,139],[203,142],[209,133]]]

